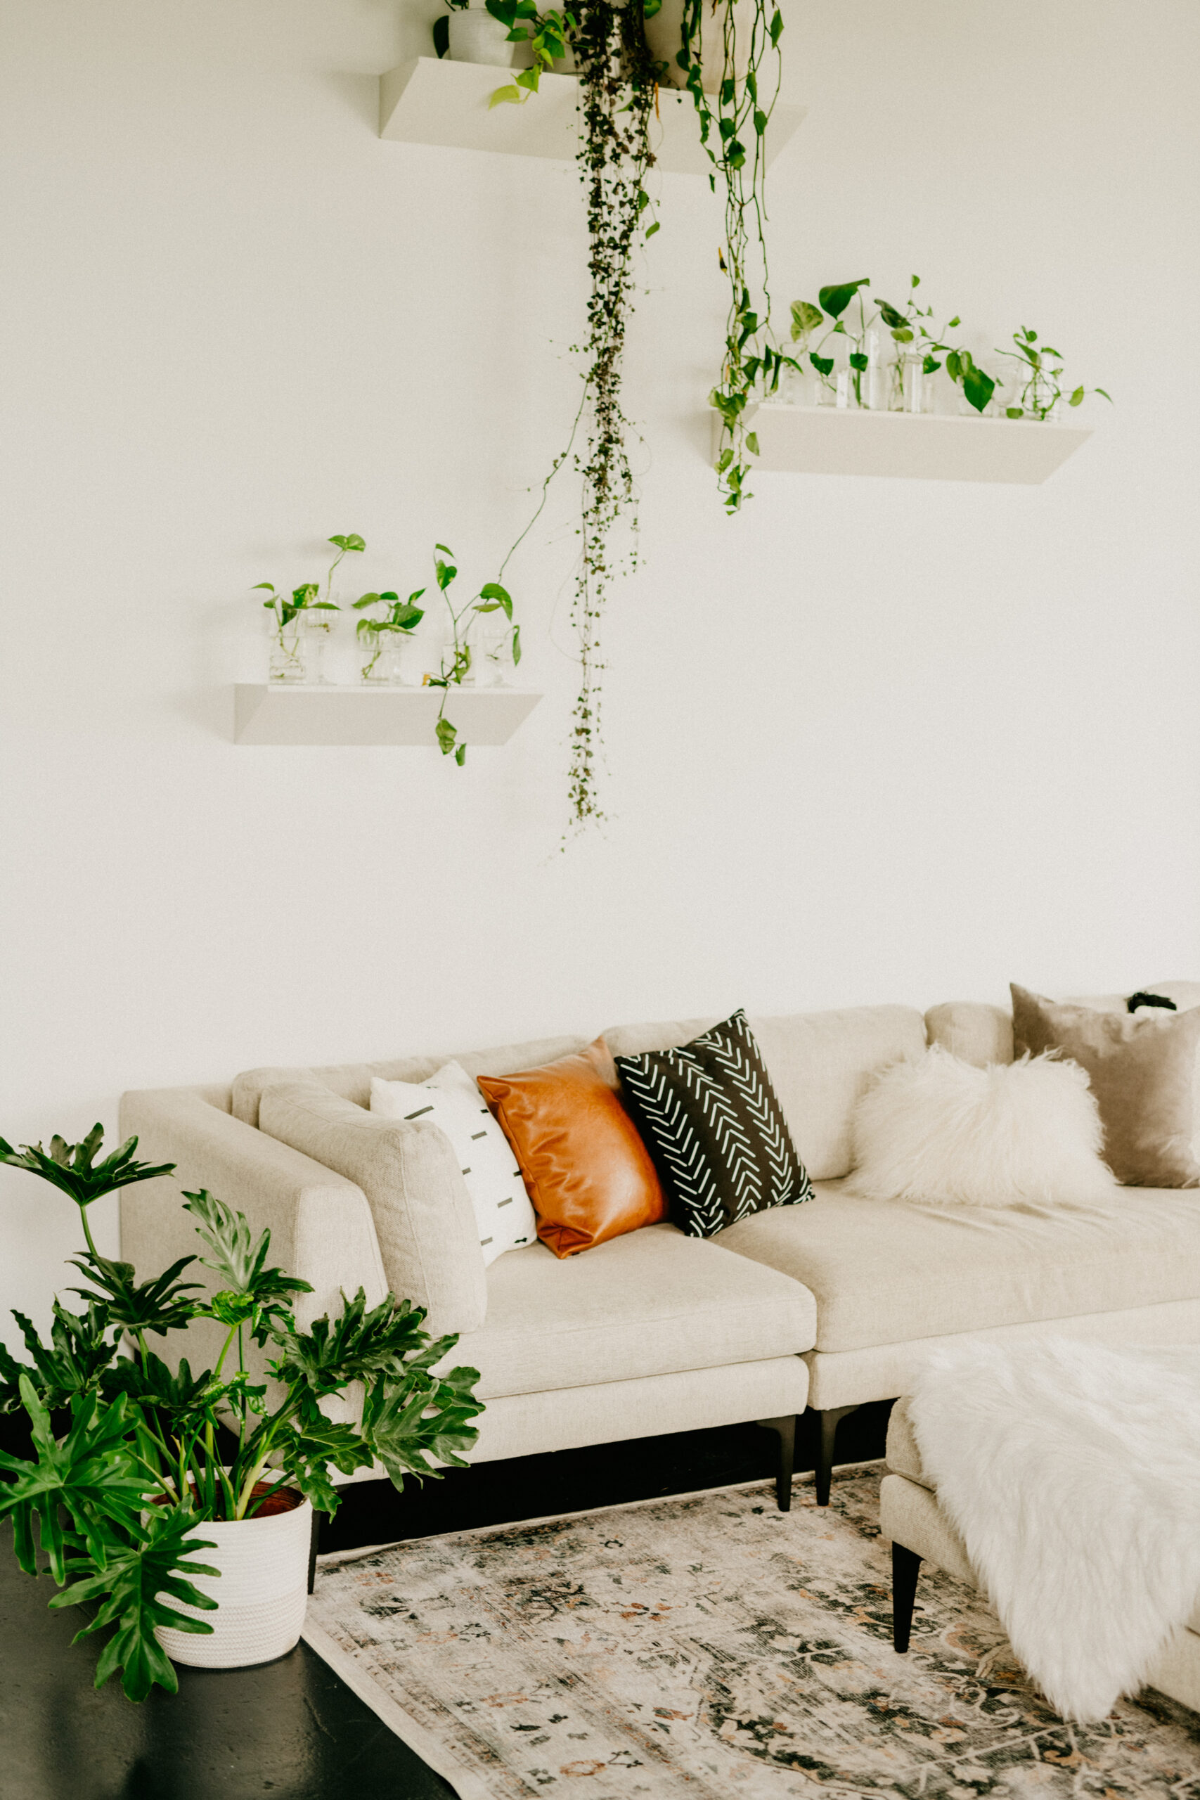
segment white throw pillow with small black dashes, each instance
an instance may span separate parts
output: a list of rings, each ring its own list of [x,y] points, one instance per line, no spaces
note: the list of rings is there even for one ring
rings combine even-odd
[[[538,1220],[513,1147],[459,1062],[426,1082],[371,1080],[371,1111],[389,1120],[428,1120],[450,1138],[471,1195],[484,1267],[506,1249],[538,1240]]]

